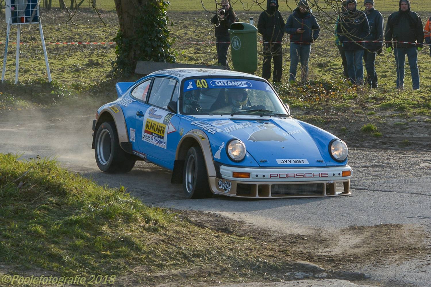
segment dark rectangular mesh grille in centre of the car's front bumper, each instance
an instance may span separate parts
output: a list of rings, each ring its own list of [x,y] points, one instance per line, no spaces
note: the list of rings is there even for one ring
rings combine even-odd
[[[271,185],[271,196],[324,195],[323,183],[275,184]]]

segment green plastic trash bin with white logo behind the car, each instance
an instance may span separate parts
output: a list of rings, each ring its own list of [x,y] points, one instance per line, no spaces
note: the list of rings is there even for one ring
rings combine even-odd
[[[257,70],[257,28],[236,22],[228,30],[231,38],[231,57],[234,70],[254,74]]]

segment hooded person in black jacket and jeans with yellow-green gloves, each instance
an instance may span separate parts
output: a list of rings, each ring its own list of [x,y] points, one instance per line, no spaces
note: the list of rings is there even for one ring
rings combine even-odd
[[[422,50],[424,43],[422,19],[417,13],[410,11],[409,0],[400,0],[399,5],[398,12],[390,14],[387,19],[384,33],[386,49],[387,52],[392,51],[393,41],[397,64],[397,89],[404,89],[404,64],[407,55],[413,89],[416,90],[419,89],[418,51]]]

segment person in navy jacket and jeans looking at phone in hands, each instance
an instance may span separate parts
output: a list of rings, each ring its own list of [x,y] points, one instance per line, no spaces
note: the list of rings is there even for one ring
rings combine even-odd
[[[289,81],[296,80],[298,62],[301,62],[301,80],[308,77],[308,59],[311,43],[318,37],[320,26],[312,14],[307,0],[300,0],[284,26],[284,31],[290,34],[290,69]]]

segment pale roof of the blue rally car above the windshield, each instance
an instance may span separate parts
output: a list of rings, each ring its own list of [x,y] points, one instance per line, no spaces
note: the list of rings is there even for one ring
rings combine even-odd
[[[155,71],[149,74],[149,76],[150,75],[151,76],[171,75],[171,76],[177,77],[178,80],[180,81],[190,77],[248,77],[248,78],[255,78],[256,80],[263,80],[263,78],[252,74],[229,71],[229,70],[206,69],[206,68],[174,68],[174,69]]]

